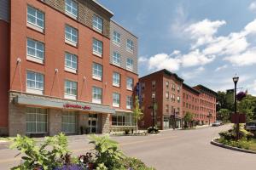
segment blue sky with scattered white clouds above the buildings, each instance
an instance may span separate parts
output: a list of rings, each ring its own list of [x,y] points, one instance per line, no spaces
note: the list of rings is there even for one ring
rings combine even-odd
[[[139,39],[139,77],[166,68],[193,86],[256,95],[256,1],[98,0]]]

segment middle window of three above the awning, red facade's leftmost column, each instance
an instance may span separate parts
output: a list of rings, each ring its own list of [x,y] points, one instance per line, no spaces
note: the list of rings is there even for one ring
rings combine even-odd
[[[44,43],[31,38],[26,39],[26,59],[44,63]]]

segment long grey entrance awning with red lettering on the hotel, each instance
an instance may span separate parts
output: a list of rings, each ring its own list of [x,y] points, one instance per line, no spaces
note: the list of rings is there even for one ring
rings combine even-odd
[[[111,108],[109,105],[99,105],[89,102],[70,101],[66,99],[53,99],[33,95],[17,95],[14,101],[17,105],[33,105],[73,111],[92,111],[105,114],[115,113],[115,110]]]

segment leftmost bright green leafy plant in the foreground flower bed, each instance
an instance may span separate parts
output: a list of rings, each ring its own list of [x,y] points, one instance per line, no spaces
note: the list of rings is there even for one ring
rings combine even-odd
[[[20,154],[25,155],[21,157],[24,162],[20,166],[12,168],[20,170],[36,167],[43,167],[44,170],[48,170],[59,167],[69,153],[67,137],[63,133],[54,137],[45,137],[44,142],[40,145],[37,145],[34,139],[18,134],[13,139],[10,148],[20,150]]]

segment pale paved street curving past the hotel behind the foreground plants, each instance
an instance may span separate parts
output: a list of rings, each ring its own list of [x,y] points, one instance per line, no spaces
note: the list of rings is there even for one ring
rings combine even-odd
[[[229,128],[206,127],[196,130],[167,130],[158,135],[113,137],[128,156],[136,156],[158,170],[222,170],[253,169],[256,155],[226,150],[210,144],[218,132]],[[70,149],[76,155],[90,150],[84,136],[70,139]],[[9,169],[20,162],[15,150],[0,150],[0,169]]]

